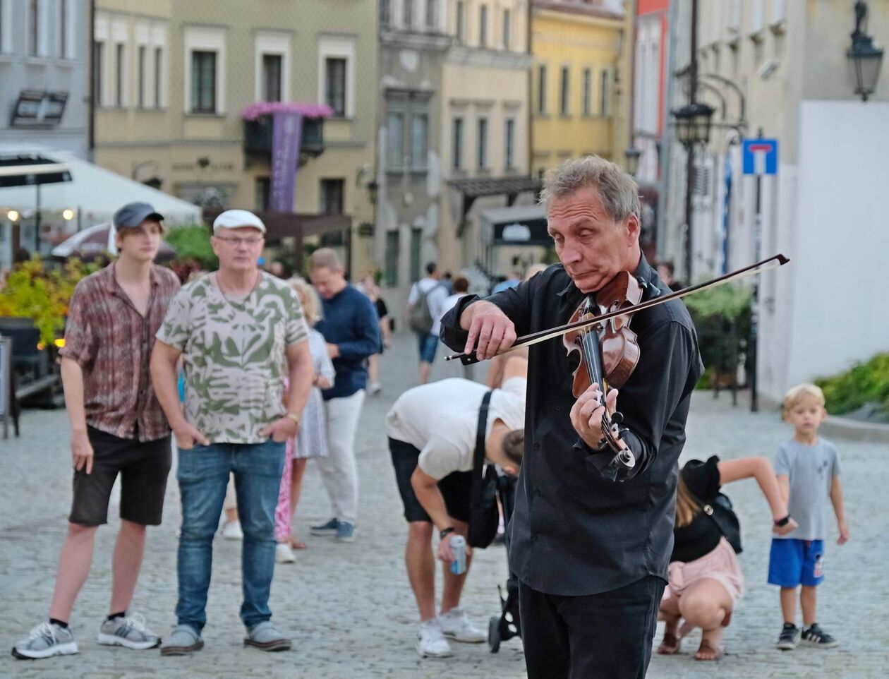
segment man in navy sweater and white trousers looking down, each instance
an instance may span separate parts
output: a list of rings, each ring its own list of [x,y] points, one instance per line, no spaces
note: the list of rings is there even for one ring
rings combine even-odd
[[[340,258],[322,247],[308,258],[308,278],[321,296],[324,318],[316,330],[324,335],[336,378],[322,392],[327,411],[327,457],[319,457],[321,477],[331,498],[333,518],[312,526],[312,535],[355,539],[358,473],[355,432],[367,387],[367,359],[380,352],[380,323],[373,303],[343,276]]]

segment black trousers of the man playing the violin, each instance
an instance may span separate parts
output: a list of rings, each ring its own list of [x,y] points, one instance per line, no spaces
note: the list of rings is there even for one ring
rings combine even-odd
[[[519,582],[528,679],[644,679],[666,583],[648,576],[587,596]]]

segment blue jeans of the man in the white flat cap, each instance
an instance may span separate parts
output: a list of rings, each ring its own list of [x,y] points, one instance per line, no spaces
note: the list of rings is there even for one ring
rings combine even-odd
[[[228,474],[232,472],[237,513],[244,530],[241,620],[250,629],[272,617],[268,593],[275,571],[275,507],[284,471],[284,445],[269,439],[264,443],[214,443],[179,449],[176,478],[182,498],[182,530],[176,618],[180,625],[200,632],[206,624],[213,536],[219,527]]]

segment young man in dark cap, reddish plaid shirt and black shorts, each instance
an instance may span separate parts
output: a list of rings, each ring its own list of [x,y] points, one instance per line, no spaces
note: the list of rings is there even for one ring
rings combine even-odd
[[[146,526],[161,522],[170,472],[170,428],[151,388],[155,333],[179,279],[155,266],[163,217],[147,203],[114,215],[115,263],[81,280],[68,306],[61,376],[71,423],[74,499],[61,548],[48,622],[12,648],[20,659],[77,652],[68,619],[92,564],[96,529],[121,476],[120,531],[114,549],[111,607],[99,643],[154,648],[160,638],[128,617],[145,553]]]

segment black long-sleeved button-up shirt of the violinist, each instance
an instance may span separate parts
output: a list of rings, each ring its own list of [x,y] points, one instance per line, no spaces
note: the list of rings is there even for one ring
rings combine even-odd
[[[668,288],[645,257],[634,271],[647,296]],[[584,295],[561,264],[487,299],[506,312],[518,335],[564,324]],[[442,319],[442,339],[461,352],[462,297]],[[593,454],[574,431],[572,374],[560,339],[530,348],[525,460],[510,522],[511,569],[547,594],[598,594],[647,575],[667,579],[676,513],[677,459],[685,418],[703,366],[685,305],[674,300],[632,319],[641,358],[617,407],[637,464],[615,482],[602,470],[613,453]]]

